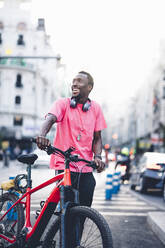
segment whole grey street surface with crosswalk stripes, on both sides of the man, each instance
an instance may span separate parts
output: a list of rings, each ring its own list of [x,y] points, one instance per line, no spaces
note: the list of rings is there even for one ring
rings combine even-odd
[[[1,165],[2,166],[2,165]],[[25,167],[11,163],[9,169],[1,167],[1,181],[8,176],[17,173],[25,173]],[[46,181],[54,175],[53,170],[46,167],[32,169],[33,186]],[[148,212],[165,211],[165,204],[159,195],[140,195],[130,191],[129,185],[122,185],[118,194],[113,195],[112,200],[105,200],[105,181],[107,170],[101,174],[94,173],[97,187],[95,190],[93,208],[104,215],[108,221],[114,248],[163,248],[164,245],[152,232],[147,223]],[[35,211],[40,209],[39,203],[44,200],[52,186],[35,193],[32,197],[32,223],[35,220]]]

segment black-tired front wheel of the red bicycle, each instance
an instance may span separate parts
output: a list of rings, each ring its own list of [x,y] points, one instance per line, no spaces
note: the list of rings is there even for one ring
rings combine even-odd
[[[82,233],[81,242],[75,247],[68,246],[69,248],[76,248],[76,247],[97,247],[97,248],[113,248],[113,241],[112,241],[112,235],[110,228],[105,221],[104,217],[95,209],[85,207],[85,206],[76,206],[70,209],[70,226],[67,229],[73,230],[74,226],[74,220],[79,218],[80,216],[85,218],[85,224],[84,229]],[[87,225],[86,221],[90,221],[92,226],[94,226],[94,230],[90,229],[89,231],[86,230],[88,228],[89,224]],[[98,229],[98,230],[97,230]],[[85,230],[85,231],[84,231]],[[92,231],[92,232],[91,232]],[[99,233],[99,240],[101,244],[98,243],[98,240],[96,240],[96,234]],[[71,233],[69,235],[72,235]],[[94,240],[91,240],[92,235],[94,235]],[[55,240],[54,240],[55,237]],[[95,243],[94,243],[95,242]],[[92,246],[90,246],[92,244]],[[45,234],[45,237],[43,239],[42,248],[60,248],[60,217],[56,218],[51,226],[49,227],[47,233]]]

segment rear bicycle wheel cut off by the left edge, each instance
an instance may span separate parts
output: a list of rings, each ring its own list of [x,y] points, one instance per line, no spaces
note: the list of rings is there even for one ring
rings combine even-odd
[[[18,200],[18,196],[14,193],[4,193],[0,196],[0,217],[4,212],[9,209]],[[7,236],[12,238],[13,236],[18,236],[24,226],[25,216],[24,209],[21,203],[18,203],[0,222],[0,231]],[[3,239],[0,239],[0,243],[4,245],[9,245],[9,243]]]

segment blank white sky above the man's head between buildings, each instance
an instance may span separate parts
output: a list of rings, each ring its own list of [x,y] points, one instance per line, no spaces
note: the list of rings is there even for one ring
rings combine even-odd
[[[122,104],[147,82],[165,38],[164,0],[32,0],[67,66],[94,77],[92,97]]]

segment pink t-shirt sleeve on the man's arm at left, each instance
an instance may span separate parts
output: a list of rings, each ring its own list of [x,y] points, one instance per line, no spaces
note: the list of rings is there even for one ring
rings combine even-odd
[[[55,101],[50,108],[48,114],[55,115],[57,117],[57,122],[61,122],[66,112],[67,99],[59,99]]]

